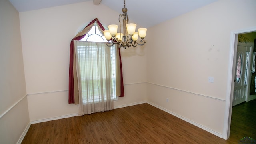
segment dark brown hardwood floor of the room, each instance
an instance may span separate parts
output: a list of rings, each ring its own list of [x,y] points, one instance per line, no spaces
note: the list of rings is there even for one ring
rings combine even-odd
[[[230,139],[224,140],[145,103],[31,124],[22,144],[237,144],[247,130],[242,126],[244,132],[236,135],[241,126],[234,118]],[[256,138],[251,118],[254,129],[249,126],[253,132],[248,136]]]

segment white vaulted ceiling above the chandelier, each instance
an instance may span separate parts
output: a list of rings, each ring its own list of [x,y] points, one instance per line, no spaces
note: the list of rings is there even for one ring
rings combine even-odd
[[[19,11],[37,10],[90,0],[9,0]],[[128,16],[134,22],[149,28],[176,16],[206,6],[217,0],[126,0]],[[118,13],[122,13],[123,0],[102,0],[104,4]],[[118,16],[116,16],[118,18]]]

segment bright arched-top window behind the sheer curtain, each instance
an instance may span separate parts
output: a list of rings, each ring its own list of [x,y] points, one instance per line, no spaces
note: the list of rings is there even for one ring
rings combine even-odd
[[[104,85],[102,83],[105,83],[106,81],[111,79],[111,97],[112,99],[117,99],[116,97],[116,46],[112,46],[108,48],[110,50],[110,62],[111,62],[111,70],[108,70],[111,72],[111,78],[107,78],[105,76],[106,72],[102,72],[100,69],[102,69],[102,66],[104,68],[107,68],[107,66],[104,66],[104,63],[108,63],[108,60],[105,60],[106,54],[103,54],[104,52],[99,52],[98,47],[105,46],[107,42],[106,38],[100,33],[97,26],[93,26],[92,29],[86,34],[86,36],[81,39],[80,41],[85,41],[84,43],[87,43],[86,46],[84,46],[81,43],[81,45],[77,46],[77,53],[78,53],[78,59],[79,59],[79,65],[80,65],[80,75],[81,75],[81,90],[82,90],[82,97],[83,97],[83,103],[90,103],[90,102],[98,102],[101,99],[100,95],[106,95],[108,92],[107,85]],[[100,63],[99,64],[99,59]],[[90,65],[90,66],[89,66]],[[100,65],[100,66],[99,66]],[[90,74],[88,74],[88,67],[92,69],[90,71]],[[96,76],[96,75],[102,75],[102,76]],[[107,74],[106,74],[107,75]],[[104,100],[106,100],[106,97],[104,96]]]

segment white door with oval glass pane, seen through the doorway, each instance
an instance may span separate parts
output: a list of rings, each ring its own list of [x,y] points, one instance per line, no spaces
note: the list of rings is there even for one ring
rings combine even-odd
[[[249,56],[250,48],[248,48],[247,46],[237,46],[233,106],[244,102],[246,99]]]

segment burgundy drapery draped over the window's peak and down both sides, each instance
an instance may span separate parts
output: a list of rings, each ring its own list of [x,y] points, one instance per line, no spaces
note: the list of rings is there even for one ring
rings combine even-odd
[[[99,29],[101,29],[102,31],[105,30],[105,28],[102,26],[102,24],[100,23],[100,21],[95,18],[94,20],[92,20],[92,22],[90,22],[85,28],[84,30],[82,30],[82,32],[79,32],[75,38],[73,38],[70,42],[70,59],[69,59],[69,79],[68,79],[68,103],[69,104],[73,104],[75,103],[75,86],[74,86],[74,40],[81,40],[82,38],[84,38],[84,36],[87,34],[87,32],[92,28],[93,24],[97,22],[98,27],[100,27]],[[87,30],[88,29],[88,30]],[[84,34],[83,31],[85,32]],[[121,62],[121,54],[120,54],[120,50],[119,50],[119,58],[120,58],[120,76],[121,76],[121,95],[120,97],[124,96],[124,83],[123,83],[123,74],[122,74],[122,62]],[[77,77],[76,77],[77,78]],[[77,80],[75,80],[77,82]]]

